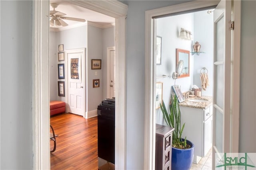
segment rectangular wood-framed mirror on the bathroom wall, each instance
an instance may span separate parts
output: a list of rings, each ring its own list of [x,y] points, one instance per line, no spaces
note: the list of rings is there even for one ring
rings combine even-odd
[[[189,54],[190,51],[183,49],[176,49],[176,68],[178,66],[179,61],[183,61],[183,67],[180,68],[181,72],[179,72],[178,78],[189,77]]]

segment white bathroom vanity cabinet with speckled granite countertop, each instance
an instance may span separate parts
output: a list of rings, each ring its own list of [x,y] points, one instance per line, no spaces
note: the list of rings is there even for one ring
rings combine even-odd
[[[180,103],[180,113],[182,138],[194,143],[193,162],[198,164],[212,147],[212,97],[188,98]]]

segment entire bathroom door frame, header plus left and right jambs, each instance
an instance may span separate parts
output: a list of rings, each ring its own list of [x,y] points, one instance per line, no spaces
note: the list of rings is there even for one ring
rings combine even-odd
[[[156,59],[154,58],[154,44],[156,37],[156,25],[154,17],[168,15],[176,12],[184,12],[189,10],[195,10],[198,8],[205,8],[209,6],[216,6],[219,1],[192,1],[173,6],[166,6],[163,8],[157,8],[154,10],[148,10],[145,13],[145,120],[144,120],[144,169],[154,169],[155,167],[155,84],[156,84]],[[236,2],[234,4],[239,4]],[[238,20],[238,29],[233,32],[233,38],[240,40],[240,10],[239,5],[234,5],[236,20]],[[236,79],[232,80],[231,94],[232,101],[239,103],[239,89],[240,89],[240,41],[234,41],[233,46],[237,47],[239,53],[233,53],[233,72],[232,77]],[[235,71],[234,71],[235,70]],[[237,91],[235,91],[237,90]],[[238,152],[238,141],[239,141],[239,106],[232,106],[232,147],[230,151]],[[235,134],[237,133],[237,134]]]

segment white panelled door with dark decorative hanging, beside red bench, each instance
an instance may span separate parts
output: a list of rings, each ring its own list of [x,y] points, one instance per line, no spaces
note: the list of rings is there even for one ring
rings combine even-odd
[[[65,51],[68,68],[68,112],[84,116],[84,49]]]

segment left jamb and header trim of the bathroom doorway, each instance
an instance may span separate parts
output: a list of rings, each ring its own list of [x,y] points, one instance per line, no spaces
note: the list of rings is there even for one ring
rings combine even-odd
[[[145,136],[144,136],[144,169],[154,169],[155,156],[155,59],[154,59],[154,20],[152,17],[186,10],[217,5],[219,1],[192,1],[173,6],[167,6],[145,13]]]

